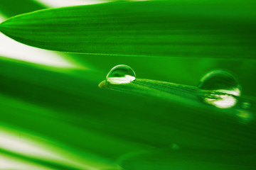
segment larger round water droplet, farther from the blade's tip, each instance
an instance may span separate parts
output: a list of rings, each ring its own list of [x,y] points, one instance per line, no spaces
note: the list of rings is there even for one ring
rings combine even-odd
[[[218,108],[231,108],[240,96],[241,88],[232,74],[218,69],[208,72],[199,84],[203,90],[203,101]]]

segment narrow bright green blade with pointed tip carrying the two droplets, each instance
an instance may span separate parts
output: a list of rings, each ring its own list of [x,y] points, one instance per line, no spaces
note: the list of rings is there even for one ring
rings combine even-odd
[[[122,91],[130,94],[137,94],[143,96],[155,96],[164,98],[168,101],[184,103],[189,106],[207,107],[201,101],[201,96],[207,91],[198,89],[196,86],[187,86],[183,84],[173,84],[165,81],[156,81],[151,79],[136,79],[129,84],[110,84],[106,80],[99,84],[100,88],[112,89],[115,91]],[[256,98],[250,96],[236,97],[239,103],[247,101],[252,105],[255,104]],[[237,106],[240,106],[238,103]],[[213,108],[214,107],[210,107]],[[255,108],[250,108],[255,111]],[[229,111],[220,109],[219,111]]]

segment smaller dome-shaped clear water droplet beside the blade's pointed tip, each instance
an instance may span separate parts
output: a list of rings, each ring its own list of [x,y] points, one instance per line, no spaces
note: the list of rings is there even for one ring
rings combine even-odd
[[[136,76],[131,67],[120,64],[110,70],[106,79],[110,84],[129,84],[136,79]]]

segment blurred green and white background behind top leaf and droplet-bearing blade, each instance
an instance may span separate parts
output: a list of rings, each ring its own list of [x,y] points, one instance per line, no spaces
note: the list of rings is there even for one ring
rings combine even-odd
[[[101,2],[0,0],[0,21]],[[212,69],[227,69],[242,95],[256,96],[255,59],[78,55],[1,34],[0,169],[255,169],[254,119],[242,125],[161,98],[100,89],[117,64],[138,78],[191,86]]]

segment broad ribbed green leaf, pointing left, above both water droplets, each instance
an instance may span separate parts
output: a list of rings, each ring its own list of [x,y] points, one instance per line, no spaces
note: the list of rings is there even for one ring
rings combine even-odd
[[[253,6],[124,1],[28,13],[1,23],[0,30],[27,45],[65,52],[255,59]]]

